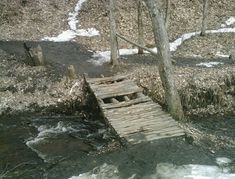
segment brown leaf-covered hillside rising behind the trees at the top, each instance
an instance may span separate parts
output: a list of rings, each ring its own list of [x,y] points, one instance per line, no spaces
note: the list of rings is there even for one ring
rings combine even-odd
[[[109,11],[108,0],[83,1],[78,15],[77,28],[96,28],[99,36],[92,38],[76,37],[75,41],[85,44],[92,50],[104,50],[109,48]],[[0,2],[0,40],[40,40],[46,36],[57,36],[68,29],[68,15],[74,11],[76,0],[36,0],[14,1],[2,0]],[[164,3],[163,3],[164,5]],[[134,0],[117,1],[117,23],[120,33],[136,40],[137,34],[137,9]],[[170,41],[187,32],[200,31],[202,2],[196,0],[172,0],[169,25]],[[219,29],[229,17],[234,16],[235,3],[233,0],[211,0],[209,5],[208,29]],[[153,36],[147,8],[144,7],[145,43],[153,46]],[[234,24],[233,24],[234,25]],[[230,25],[229,27],[233,27]],[[186,44],[183,52],[196,55],[198,49],[202,49],[209,42],[209,49],[202,53],[204,56],[215,55],[218,51],[228,54],[229,49],[234,48],[234,34],[214,35],[207,38],[195,38],[190,44]],[[213,40],[212,40],[213,39]],[[120,48],[130,48],[122,41]],[[189,47],[188,47],[189,46]],[[194,49],[194,50],[192,50]],[[208,54],[208,50],[212,51]],[[187,53],[183,53],[187,55]]]

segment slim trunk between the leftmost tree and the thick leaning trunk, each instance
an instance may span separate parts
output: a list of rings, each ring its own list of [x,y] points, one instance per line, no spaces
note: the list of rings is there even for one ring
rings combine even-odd
[[[138,8],[138,44],[144,46],[144,28],[143,28],[143,5],[142,0],[137,0]],[[138,54],[143,54],[144,49],[138,48]]]

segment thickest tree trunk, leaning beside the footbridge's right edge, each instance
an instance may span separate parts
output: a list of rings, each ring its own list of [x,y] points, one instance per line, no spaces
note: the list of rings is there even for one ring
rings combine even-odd
[[[154,32],[155,43],[159,55],[159,73],[165,91],[165,99],[168,110],[173,118],[183,119],[183,109],[173,76],[173,66],[171,63],[170,45],[165,27],[163,15],[161,13],[158,0],[145,0]]]

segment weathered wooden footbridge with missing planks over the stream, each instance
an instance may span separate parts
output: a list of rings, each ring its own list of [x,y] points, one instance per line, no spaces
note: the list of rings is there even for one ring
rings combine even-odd
[[[127,76],[85,78],[106,123],[131,144],[184,135],[160,105]]]

